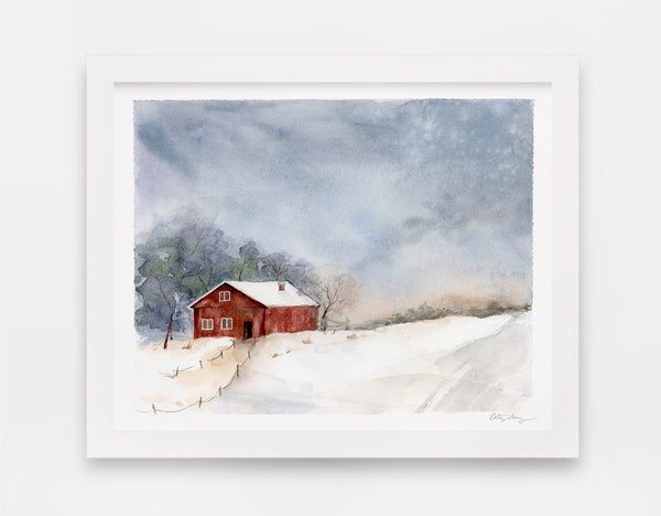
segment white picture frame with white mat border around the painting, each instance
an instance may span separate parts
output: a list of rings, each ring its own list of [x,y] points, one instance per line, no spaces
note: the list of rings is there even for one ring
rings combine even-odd
[[[540,342],[550,390],[549,419],[533,429],[491,420],[453,429],[381,418],[335,419],[299,428],[258,417],[259,424],[192,429],[176,423],[136,428],[117,419],[118,367],[126,355],[118,321],[132,299],[119,293],[127,269],[132,197],[118,154],[119,96],[182,85],[215,97],[217,88],[283,88],[296,95],[337,88],[405,92],[438,87],[444,95],[474,96],[542,88],[546,118],[540,129],[548,153],[535,151],[534,216],[543,238],[534,251],[535,301],[548,314]],[[431,86],[430,86],[431,85]],[[129,88],[129,89],[127,89]],[[174,88],[174,89],[172,89]],[[321,88],[321,89],[319,89]],[[505,89],[502,89],[505,88]],[[355,89],[354,89],[355,90]],[[236,94],[234,94],[236,95]],[[342,92],[340,94],[342,95]],[[537,174],[537,171],[535,171]],[[128,180],[128,183],[127,183]],[[538,197],[539,196],[539,197]],[[540,203],[537,203],[538,198]],[[128,204],[127,204],[128,200]],[[127,218],[128,217],[128,218]],[[128,222],[127,222],[128,221]],[[537,230],[537,229],[535,229]],[[535,234],[537,235],[537,234]],[[539,249],[538,249],[539,250]],[[537,259],[535,258],[535,259]],[[130,260],[130,259],[129,259]],[[541,267],[541,266],[540,266]],[[128,273],[130,275],[130,270]],[[130,277],[129,277],[130,279]],[[129,307],[127,307],[127,303]],[[132,324],[132,318],[130,323]],[[234,416],[228,416],[234,417]],[[416,416],[413,416],[415,418]],[[420,418],[420,416],[418,416]],[[254,420],[254,419],[253,419]],[[386,421],[386,422],[384,422]],[[87,455],[89,458],[576,458],[578,456],[578,60],[576,56],[89,56],[87,61]]]

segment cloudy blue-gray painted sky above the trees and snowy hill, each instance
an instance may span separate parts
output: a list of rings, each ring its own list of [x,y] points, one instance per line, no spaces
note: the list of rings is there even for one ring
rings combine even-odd
[[[532,101],[136,101],[136,222],[195,203],[237,241],[372,292],[530,295]],[[413,299],[413,297],[411,298]]]

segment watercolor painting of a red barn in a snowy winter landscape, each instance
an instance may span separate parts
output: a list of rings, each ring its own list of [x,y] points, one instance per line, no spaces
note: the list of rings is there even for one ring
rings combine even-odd
[[[134,409],[524,410],[533,108],[136,100]]]

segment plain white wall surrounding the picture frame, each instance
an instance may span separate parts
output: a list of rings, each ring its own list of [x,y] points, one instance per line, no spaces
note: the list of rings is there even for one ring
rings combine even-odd
[[[653,8],[576,0],[6,6],[2,514],[661,514]],[[582,458],[85,459],[88,53],[579,54]]]

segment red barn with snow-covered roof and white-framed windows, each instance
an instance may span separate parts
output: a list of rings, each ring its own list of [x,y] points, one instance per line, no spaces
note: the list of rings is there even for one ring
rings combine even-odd
[[[319,305],[289,281],[224,281],[188,308],[194,338],[251,338],[316,330]]]

